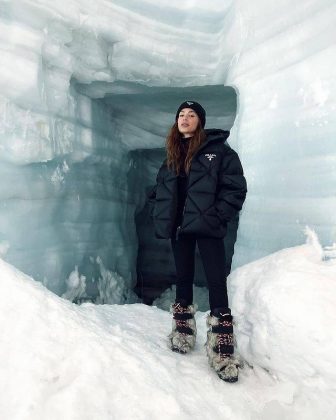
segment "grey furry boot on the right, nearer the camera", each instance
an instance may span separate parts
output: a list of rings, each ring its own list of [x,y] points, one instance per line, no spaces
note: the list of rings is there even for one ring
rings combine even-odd
[[[234,356],[233,319],[230,309],[218,308],[207,316],[208,361],[225,382],[238,381],[240,360]]]

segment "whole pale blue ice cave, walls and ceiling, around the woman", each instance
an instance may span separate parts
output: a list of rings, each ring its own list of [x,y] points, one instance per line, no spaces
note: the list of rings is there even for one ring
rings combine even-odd
[[[191,95],[244,165],[234,265],[305,225],[335,241],[335,16],[327,0],[1,1],[3,257],[59,294],[75,266],[134,286],[153,150]]]

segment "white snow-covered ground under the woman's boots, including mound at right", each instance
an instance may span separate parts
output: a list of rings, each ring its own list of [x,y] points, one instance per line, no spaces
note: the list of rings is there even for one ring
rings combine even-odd
[[[332,254],[332,252],[331,252]],[[72,304],[0,260],[1,420],[334,419],[336,260],[307,244],[230,276],[237,384],[166,345],[156,307]]]

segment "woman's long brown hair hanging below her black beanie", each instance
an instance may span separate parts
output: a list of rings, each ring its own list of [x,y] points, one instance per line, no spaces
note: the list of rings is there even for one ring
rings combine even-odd
[[[196,128],[195,134],[190,138],[190,144],[188,148],[188,153],[185,162],[182,162],[181,159],[181,133],[178,130],[177,122],[169,130],[167,139],[166,139],[166,150],[167,150],[167,166],[169,169],[174,169],[179,175],[183,165],[186,173],[189,173],[191,166],[191,159],[194,156],[196,150],[204,142],[206,135],[203,127],[200,123]]]

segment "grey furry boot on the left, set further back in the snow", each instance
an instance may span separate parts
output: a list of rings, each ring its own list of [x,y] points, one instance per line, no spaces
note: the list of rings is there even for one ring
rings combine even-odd
[[[178,353],[189,353],[196,342],[196,321],[194,314],[197,305],[183,306],[182,303],[171,305],[173,314],[172,332],[169,334],[169,348]]]

